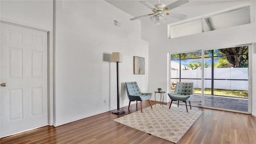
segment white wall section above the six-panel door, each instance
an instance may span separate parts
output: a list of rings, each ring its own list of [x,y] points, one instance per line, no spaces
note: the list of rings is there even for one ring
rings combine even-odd
[[[1,0],[1,20],[52,30],[52,0]]]

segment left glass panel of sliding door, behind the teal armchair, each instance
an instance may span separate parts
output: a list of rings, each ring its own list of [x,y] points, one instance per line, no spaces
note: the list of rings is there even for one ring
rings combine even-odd
[[[175,90],[176,82],[193,82],[194,96],[190,100],[191,105],[202,106],[202,51],[172,54],[170,57],[171,92]]]

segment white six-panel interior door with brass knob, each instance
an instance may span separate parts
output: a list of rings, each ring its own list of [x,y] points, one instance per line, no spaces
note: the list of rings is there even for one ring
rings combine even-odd
[[[0,26],[2,138],[48,125],[48,43],[47,32]]]

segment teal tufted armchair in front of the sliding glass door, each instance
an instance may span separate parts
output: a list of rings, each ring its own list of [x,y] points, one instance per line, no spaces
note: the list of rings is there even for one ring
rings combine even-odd
[[[168,96],[172,101],[178,100],[178,107],[179,107],[180,100],[182,102],[185,102],[187,112],[188,112],[187,102],[189,102],[190,109],[191,109],[190,100],[192,99],[193,95],[194,95],[193,82],[177,82],[174,92],[168,93]],[[171,108],[172,101],[169,109]]]

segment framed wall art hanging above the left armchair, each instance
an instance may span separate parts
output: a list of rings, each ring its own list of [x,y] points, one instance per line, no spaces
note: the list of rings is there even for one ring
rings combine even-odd
[[[133,74],[145,74],[145,58],[133,56]]]

